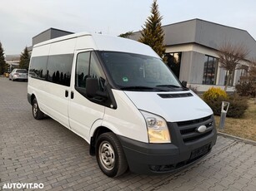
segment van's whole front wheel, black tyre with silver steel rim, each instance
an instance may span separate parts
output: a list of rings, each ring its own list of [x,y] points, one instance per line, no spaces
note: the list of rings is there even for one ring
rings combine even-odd
[[[112,132],[99,135],[96,143],[96,159],[99,168],[108,177],[118,177],[128,169],[122,145]]]

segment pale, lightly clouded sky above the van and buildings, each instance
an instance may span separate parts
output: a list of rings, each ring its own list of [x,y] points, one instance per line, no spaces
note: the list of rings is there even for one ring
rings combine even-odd
[[[142,29],[153,0],[0,0],[0,42],[21,54],[50,27],[118,36]],[[200,18],[246,30],[256,39],[255,0],[158,0],[162,25]]]

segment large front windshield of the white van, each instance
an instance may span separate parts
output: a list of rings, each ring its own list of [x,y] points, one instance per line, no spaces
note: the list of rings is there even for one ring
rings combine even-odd
[[[125,91],[181,91],[183,87],[161,59],[125,52],[100,51],[115,86]]]

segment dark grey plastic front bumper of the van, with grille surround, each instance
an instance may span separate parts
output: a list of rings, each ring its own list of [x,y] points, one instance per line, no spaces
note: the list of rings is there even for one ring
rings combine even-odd
[[[199,125],[208,123],[209,120],[213,120],[213,116],[207,121],[200,121]],[[170,173],[193,164],[211,151],[217,139],[214,121],[211,123],[213,129],[210,133],[199,137],[197,140],[187,142],[184,141],[180,127],[176,123],[168,123],[168,128],[173,136],[173,142],[170,144],[148,144],[123,136],[118,136],[118,139],[123,145],[129,169],[134,173]]]

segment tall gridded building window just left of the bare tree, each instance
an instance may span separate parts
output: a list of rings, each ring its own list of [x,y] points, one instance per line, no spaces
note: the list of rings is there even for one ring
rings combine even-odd
[[[215,85],[218,71],[218,58],[205,55],[203,67],[203,84]]]

